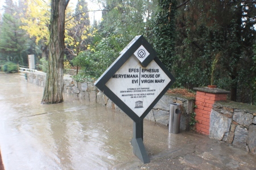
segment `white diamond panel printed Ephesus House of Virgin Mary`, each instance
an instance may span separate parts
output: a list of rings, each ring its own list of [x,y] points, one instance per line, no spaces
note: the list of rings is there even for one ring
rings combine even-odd
[[[109,79],[106,86],[141,117],[170,82],[171,79],[154,60],[145,68],[133,55]]]

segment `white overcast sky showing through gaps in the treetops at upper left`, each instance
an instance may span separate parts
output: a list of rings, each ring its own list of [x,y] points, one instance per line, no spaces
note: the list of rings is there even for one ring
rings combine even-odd
[[[18,0],[14,0],[14,2],[18,2]],[[101,7],[98,3],[93,3],[93,1],[87,1],[88,2],[88,9],[89,11],[93,10],[101,10]],[[75,9],[77,0],[70,0],[69,5],[72,5]],[[3,13],[3,5],[5,5],[5,0],[0,0],[0,13]],[[96,12],[89,12],[89,17],[90,17],[90,23],[93,24],[94,19],[97,20],[97,22],[100,22],[101,20],[101,11],[96,11]]]

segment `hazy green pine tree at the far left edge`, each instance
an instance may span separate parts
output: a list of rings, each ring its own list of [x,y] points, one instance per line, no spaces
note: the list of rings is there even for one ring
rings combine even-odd
[[[16,11],[16,6],[13,1],[7,0],[4,6],[5,12],[1,20],[1,35],[0,35],[0,53],[5,61],[12,61],[24,65],[27,61],[27,44],[26,31],[20,29],[19,13]]]

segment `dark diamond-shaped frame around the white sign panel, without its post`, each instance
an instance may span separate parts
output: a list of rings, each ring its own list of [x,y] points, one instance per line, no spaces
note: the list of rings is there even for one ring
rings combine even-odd
[[[152,48],[152,46],[144,39],[143,36],[137,36],[138,38],[133,44],[131,43],[127,46],[130,48],[126,49],[116,60],[113,64],[105,71],[104,74],[97,80],[95,86],[100,89],[106,96],[109,97],[123,112],[125,112],[134,122],[140,122],[143,120],[144,117],[151,111],[151,109],[155,106],[156,103],[161,99],[161,97],[166,93],[168,88],[175,82],[174,76],[170,73],[170,71],[163,65],[158,57],[156,57],[156,52]],[[144,111],[141,117],[139,117],[136,113],[134,113],[117,95],[115,95],[107,86],[106,83],[112,76],[120,69],[120,67],[129,59],[133,53],[139,48],[139,46],[143,45],[144,48],[150,53],[150,55],[141,63],[143,67],[147,67],[147,65],[154,59],[154,61],[158,64],[158,66],[164,71],[164,73],[171,79],[170,83],[160,92],[158,97],[150,104],[150,106]]]

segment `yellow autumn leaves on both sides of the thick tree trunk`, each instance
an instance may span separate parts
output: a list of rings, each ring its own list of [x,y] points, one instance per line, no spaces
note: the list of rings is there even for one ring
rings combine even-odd
[[[73,18],[73,12],[75,10],[71,3],[72,2],[69,2],[65,11],[65,20],[68,20],[68,22],[65,23],[65,43],[66,46],[71,46],[72,50],[78,54],[82,43],[89,37],[93,37],[97,33],[97,29],[94,28],[93,32],[89,33],[91,26],[82,25],[84,18]],[[37,44],[40,40],[48,44],[51,0],[27,1],[26,5],[27,11],[22,18],[22,22],[26,24],[21,28],[25,29],[30,37],[35,37]],[[82,9],[82,6],[79,6],[79,8]]]

